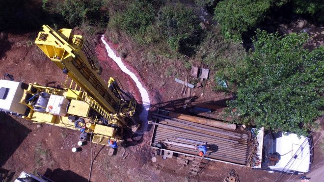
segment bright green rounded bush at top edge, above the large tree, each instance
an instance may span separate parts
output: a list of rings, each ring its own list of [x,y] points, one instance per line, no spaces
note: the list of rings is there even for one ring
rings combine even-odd
[[[270,6],[270,0],[223,0],[215,8],[214,19],[224,35],[241,40],[241,34],[260,23]]]

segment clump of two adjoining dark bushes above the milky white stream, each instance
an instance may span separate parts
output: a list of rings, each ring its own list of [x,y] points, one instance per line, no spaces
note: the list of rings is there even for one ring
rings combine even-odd
[[[199,21],[193,10],[180,2],[167,3],[155,11],[147,1],[132,1],[110,14],[109,30],[124,32],[140,45],[162,50],[165,46],[158,47],[166,43],[172,52],[191,54],[199,44]]]

